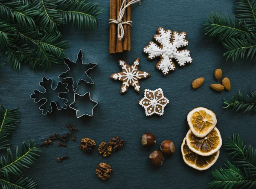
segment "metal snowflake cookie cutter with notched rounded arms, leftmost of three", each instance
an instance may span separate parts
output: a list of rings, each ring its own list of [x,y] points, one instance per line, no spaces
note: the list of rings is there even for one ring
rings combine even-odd
[[[38,103],[41,100],[46,101],[39,107],[39,109],[42,110],[43,116],[46,115],[47,113],[52,112],[52,103],[56,105],[58,110],[61,110],[62,108],[67,109],[68,100],[60,96],[61,94],[69,92],[67,88],[68,86],[67,83],[62,83],[61,81],[59,81],[57,84],[57,87],[52,88],[53,80],[43,77],[42,81],[39,82],[39,85],[43,87],[45,91],[41,92],[39,90],[34,90],[34,93],[30,95],[30,98],[34,99],[35,103]],[[55,93],[55,96],[50,97],[51,93]],[[56,99],[58,99],[58,101]],[[59,101],[61,101],[64,105],[61,106]]]

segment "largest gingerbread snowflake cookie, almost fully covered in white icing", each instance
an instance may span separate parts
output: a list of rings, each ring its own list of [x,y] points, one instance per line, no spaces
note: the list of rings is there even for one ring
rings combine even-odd
[[[184,66],[187,62],[192,62],[189,50],[178,50],[189,44],[185,39],[186,32],[178,33],[172,32],[169,29],[164,30],[163,28],[158,28],[157,33],[154,35],[154,39],[160,46],[150,41],[143,51],[148,54],[148,59],[160,56],[161,59],[157,63],[156,68],[162,70],[163,75],[166,76],[170,70],[175,70],[173,59],[176,60],[179,66]]]

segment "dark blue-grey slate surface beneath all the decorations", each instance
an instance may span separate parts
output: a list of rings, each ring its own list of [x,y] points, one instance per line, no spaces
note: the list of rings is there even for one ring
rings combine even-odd
[[[79,128],[75,133],[76,141],[67,142],[68,148],[59,148],[56,143],[48,148],[42,148],[43,153],[38,162],[26,171],[38,183],[38,189],[83,189],[83,188],[206,188],[212,179],[211,170],[222,166],[228,157],[221,148],[220,157],[215,165],[204,172],[199,172],[187,166],[181,156],[180,145],[189,127],[186,122],[187,113],[193,108],[203,106],[211,109],[217,115],[217,127],[225,140],[234,132],[239,133],[247,144],[256,146],[256,117],[250,113],[242,114],[224,110],[222,97],[229,98],[239,89],[245,93],[255,90],[255,64],[239,61],[233,64],[222,57],[224,52],[221,44],[208,42],[204,36],[203,21],[211,11],[234,13],[234,2],[231,0],[143,0],[142,5],[134,6],[132,13],[132,50],[119,55],[108,54],[108,18],[109,1],[98,0],[105,8],[100,15],[99,29],[93,32],[75,31],[69,26],[64,28],[63,39],[72,43],[66,55],[76,61],[76,55],[81,48],[84,62],[98,63],[96,69],[90,71],[94,85],[81,83],[80,93],[91,92],[91,96],[99,104],[93,117],[76,118],[71,109],[53,112],[42,116],[39,105],[29,98],[34,89],[40,89],[39,82],[43,76],[59,81],[59,74],[67,69],[52,67],[51,73],[32,72],[23,66],[20,72],[10,70],[10,65],[0,69],[0,102],[6,108],[20,107],[20,124],[12,135],[12,149],[24,140],[35,139],[42,142],[44,138],[55,132],[67,132],[66,123],[73,123]],[[193,58],[192,64],[177,67],[174,73],[164,77],[161,71],[155,69],[158,59],[149,61],[142,52],[149,41],[152,41],[157,28],[163,27],[172,31],[186,31]],[[129,88],[125,95],[119,94],[120,81],[110,79],[110,75],[119,72],[118,58],[131,64],[140,57],[140,70],[151,73],[148,79],[141,80],[142,91],[161,87],[170,100],[163,116],[145,116],[144,109],[138,104],[143,93],[137,94]],[[3,59],[1,59],[3,60]],[[215,83],[213,72],[216,68],[223,70],[229,77],[231,91],[216,93],[209,88]],[[204,77],[204,84],[193,90],[191,83],[198,77]],[[72,96],[72,95],[71,95]],[[71,102],[71,101],[70,101]],[[157,137],[157,143],[151,149],[140,145],[143,133],[152,132]],[[84,137],[93,138],[99,144],[118,135],[125,140],[125,147],[111,157],[103,158],[97,151],[91,155],[84,154],[79,149],[80,140]],[[159,149],[163,140],[173,140],[176,153],[164,160],[163,166],[154,169],[149,165],[148,155]],[[3,151],[0,152],[3,154]],[[68,155],[69,160],[59,163],[56,158]],[[107,182],[101,181],[96,174],[95,166],[100,162],[113,166],[113,174]]]

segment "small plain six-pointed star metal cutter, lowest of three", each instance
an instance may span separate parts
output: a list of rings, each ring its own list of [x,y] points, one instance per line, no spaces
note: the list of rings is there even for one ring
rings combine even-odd
[[[81,108],[79,108],[78,106],[82,104],[82,102],[78,103],[79,105],[76,105],[76,102],[79,101],[79,98],[81,98],[82,100],[87,100],[85,101],[85,104],[89,104],[89,103],[93,103],[94,106],[92,109],[90,109],[88,111],[87,106],[82,106]],[[69,107],[73,110],[76,110],[76,117],[80,118],[81,116],[87,115],[92,117],[93,116],[93,109],[98,105],[98,102],[94,101],[91,99],[90,97],[90,92],[85,93],[84,95],[80,95],[78,93],[74,93],[74,102],[72,102]],[[82,108],[85,108],[84,110]],[[86,109],[87,108],[87,109]],[[82,113],[81,113],[82,112]]]

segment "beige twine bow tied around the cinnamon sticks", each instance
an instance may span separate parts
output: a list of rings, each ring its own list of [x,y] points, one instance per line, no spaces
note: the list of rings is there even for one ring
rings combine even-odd
[[[120,12],[119,12],[119,16],[118,16],[117,20],[114,20],[114,19],[109,19],[109,20],[108,20],[108,21],[109,21],[109,24],[111,24],[111,23],[117,24],[118,40],[119,40],[119,41],[121,41],[122,38],[124,37],[124,27],[123,27],[123,25],[127,24],[127,25],[130,25],[130,26],[131,26],[131,23],[132,23],[131,20],[128,20],[128,21],[126,21],[126,22],[123,22],[123,21],[122,21],[122,17],[123,17],[124,14],[125,14],[125,9],[126,9],[128,6],[130,6],[130,5],[134,4],[134,3],[137,3],[137,2],[139,2],[139,1],[141,1],[141,0],[131,0],[131,1],[130,1],[129,3],[127,3],[127,4],[126,4],[126,1],[127,1],[127,0],[124,0],[124,1],[122,2],[121,8],[120,8]]]

